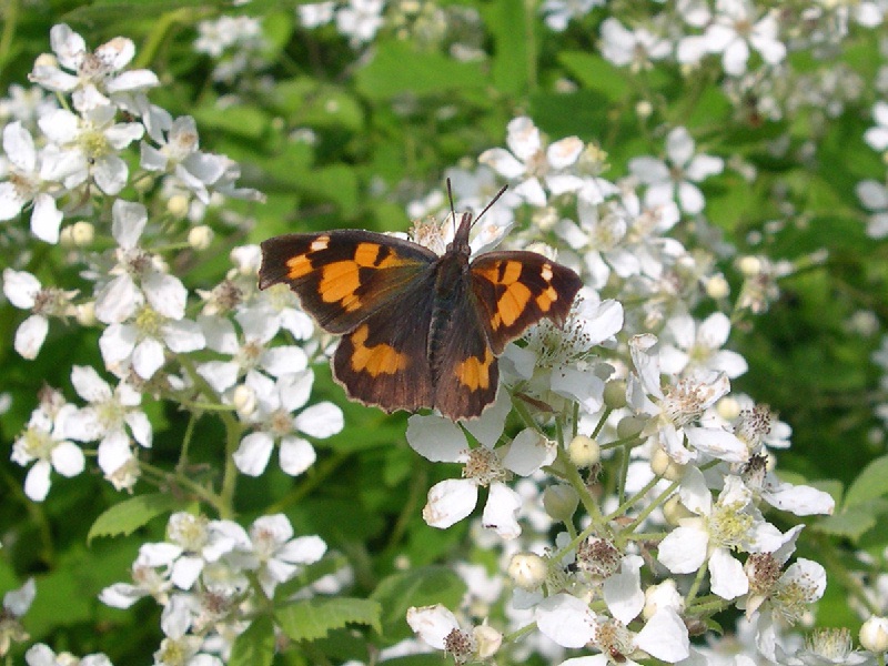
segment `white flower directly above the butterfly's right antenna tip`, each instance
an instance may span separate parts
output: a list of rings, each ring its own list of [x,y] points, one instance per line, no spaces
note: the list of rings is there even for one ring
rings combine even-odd
[[[576,192],[585,184],[584,179],[569,171],[584,149],[577,137],[562,139],[544,149],[543,138],[534,122],[521,117],[508,123],[506,144],[508,150],[485,150],[478,162],[507,180],[519,181],[512,191],[531,205],[546,204],[543,184],[552,194]]]

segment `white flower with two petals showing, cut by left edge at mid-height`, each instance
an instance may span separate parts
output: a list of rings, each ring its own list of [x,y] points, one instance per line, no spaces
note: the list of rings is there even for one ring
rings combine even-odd
[[[3,270],[3,293],[16,307],[31,310],[16,331],[14,347],[24,359],[34,359],[49,332],[49,316],[64,317],[70,313],[75,291],[43,289],[37,278],[24,271]]]

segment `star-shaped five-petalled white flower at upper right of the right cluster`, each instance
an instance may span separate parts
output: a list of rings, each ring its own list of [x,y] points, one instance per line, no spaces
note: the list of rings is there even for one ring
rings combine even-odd
[[[694,150],[688,131],[675,128],[666,139],[668,163],[652,157],[629,161],[629,170],[647,185],[646,205],[654,208],[675,201],[687,213],[703,211],[706,200],[695,183],[722,173],[725,162],[722,158],[695,155]]]

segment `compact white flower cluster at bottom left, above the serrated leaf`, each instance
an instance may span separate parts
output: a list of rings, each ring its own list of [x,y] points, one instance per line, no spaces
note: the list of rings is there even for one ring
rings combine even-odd
[[[258,518],[246,531],[233,521],[176,513],[167,533],[165,542],[139,549],[133,583],[111,585],[100,595],[115,608],[129,608],[143,597],[163,607],[165,638],[154,663],[164,665],[221,666],[234,638],[278,585],[326,552],[317,536],[294,537],[283,514]]]

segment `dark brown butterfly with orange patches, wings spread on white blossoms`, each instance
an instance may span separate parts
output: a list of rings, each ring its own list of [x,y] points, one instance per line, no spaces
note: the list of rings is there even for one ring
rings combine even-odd
[[[370,231],[271,238],[259,287],[289,285],[321,329],[342,335],[331,363],[352,400],[474,418],[496,397],[505,345],[542,319],[562,325],[582,281],[536,252],[471,260],[471,228],[464,213],[441,256]]]

